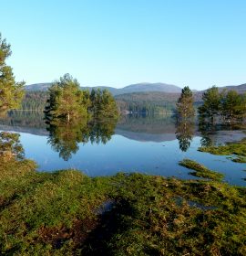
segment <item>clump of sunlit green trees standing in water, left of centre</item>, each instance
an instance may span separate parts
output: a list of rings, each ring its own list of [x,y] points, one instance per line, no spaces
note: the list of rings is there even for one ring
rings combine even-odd
[[[69,74],[52,84],[46,102],[48,120],[66,119],[69,123],[77,119],[118,118],[118,107],[109,91],[82,91]]]

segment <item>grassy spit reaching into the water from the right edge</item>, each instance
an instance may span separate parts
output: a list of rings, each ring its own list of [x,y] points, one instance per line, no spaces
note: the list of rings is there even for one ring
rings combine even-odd
[[[237,163],[246,163],[246,138],[243,138],[238,143],[200,147],[199,151],[207,152],[212,155],[233,155],[233,157],[231,157],[231,161]]]

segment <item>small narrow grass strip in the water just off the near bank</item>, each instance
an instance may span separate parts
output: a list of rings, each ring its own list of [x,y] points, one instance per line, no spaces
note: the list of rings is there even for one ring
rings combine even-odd
[[[222,174],[219,174],[218,172],[215,171],[211,171],[206,166],[200,165],[196,161],[190,159],[183,159],[182,161],[179,162],[179,165],[194,170],[195,172],[189,173],[192,176],[204,177],[217,181],[220,181],[223,177]]]

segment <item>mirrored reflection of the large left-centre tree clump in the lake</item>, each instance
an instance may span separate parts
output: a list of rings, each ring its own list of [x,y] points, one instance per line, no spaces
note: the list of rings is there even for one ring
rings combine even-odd
[[[67,123],[56,120],[47,123],[46,129],[49,132],[47,142],[61,158],[67,161],[72,154],[77,153],[79,143],[106,144],[115,131],[116,123],[116,120],[103,123],[87,123],[87,120]]]

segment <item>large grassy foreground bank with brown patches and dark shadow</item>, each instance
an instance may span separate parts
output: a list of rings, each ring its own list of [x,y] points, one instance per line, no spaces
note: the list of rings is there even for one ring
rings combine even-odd
[[[246,189],[0,165],[4,255],[245,255]]]

